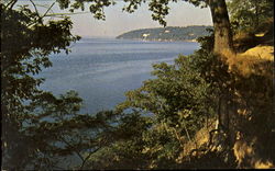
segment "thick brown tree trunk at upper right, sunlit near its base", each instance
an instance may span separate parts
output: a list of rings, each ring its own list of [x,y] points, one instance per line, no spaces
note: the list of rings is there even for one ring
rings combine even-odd
[[[222,55],[232,52],[232,33],[229,22],[227,3],[224,0],[209,0],[215,29],[213,53]]]

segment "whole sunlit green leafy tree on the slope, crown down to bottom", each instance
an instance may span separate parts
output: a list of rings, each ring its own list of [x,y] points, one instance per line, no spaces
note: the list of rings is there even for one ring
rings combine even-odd
[[[194,59],[179,56],[175,65],[154,65],[156,79],[144,81],[140,89],[127,92],[117,110],[134,110],[154,118],[154,127],[145,133],[144,150],[154,168],[176,164],[186,141],[213,117],[211,88],[199,75]],[[172,167],[172,166],[170,166]]]

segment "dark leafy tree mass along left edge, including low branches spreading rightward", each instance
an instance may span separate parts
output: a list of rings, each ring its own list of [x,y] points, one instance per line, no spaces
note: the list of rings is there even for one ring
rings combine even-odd
[[[64,167],[58,161],[75,156],[80,159],[75,167],[81,169],[112,142],[107,134],[118,115],[79,114],[82,100],[76,92],[55,96],[40,90],[44,79],[34,76],[52,66],[48,55],[68,53],[79,37],[72,35],[66,16],[45,22],[54,3],[41,14],[31,2],[34,11],[26,5],[13,9],[16,0],[0,4],[2,168],[58,169]]]

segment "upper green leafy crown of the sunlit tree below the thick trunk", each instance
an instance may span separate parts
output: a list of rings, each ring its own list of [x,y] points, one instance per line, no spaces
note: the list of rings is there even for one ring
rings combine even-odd
[[[128,100],[119,109],[141,110],[153,113],[158,122],[173,126],[186,122],[190,130],[197,129],[201,116],[209,113],[209,107],[202,106],[209,86],[190,68],[189,60],[182,56],[174,66],[154,65],[153,76],[157,79],[146,80],[142,88],[129,91]]]

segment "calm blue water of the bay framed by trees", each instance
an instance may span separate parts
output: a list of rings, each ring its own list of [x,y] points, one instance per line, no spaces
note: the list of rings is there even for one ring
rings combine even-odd
[[[72,53],[51,57],[53,67],[40,75],[41,87],[54,94],[76,90],[84,99],[82,112],[111,110],[125,100],[124,92],[152,78],[152,64],[169,62],[189,55],[199,45],[190,42],[139,42],[111,38],[82,38]]]

